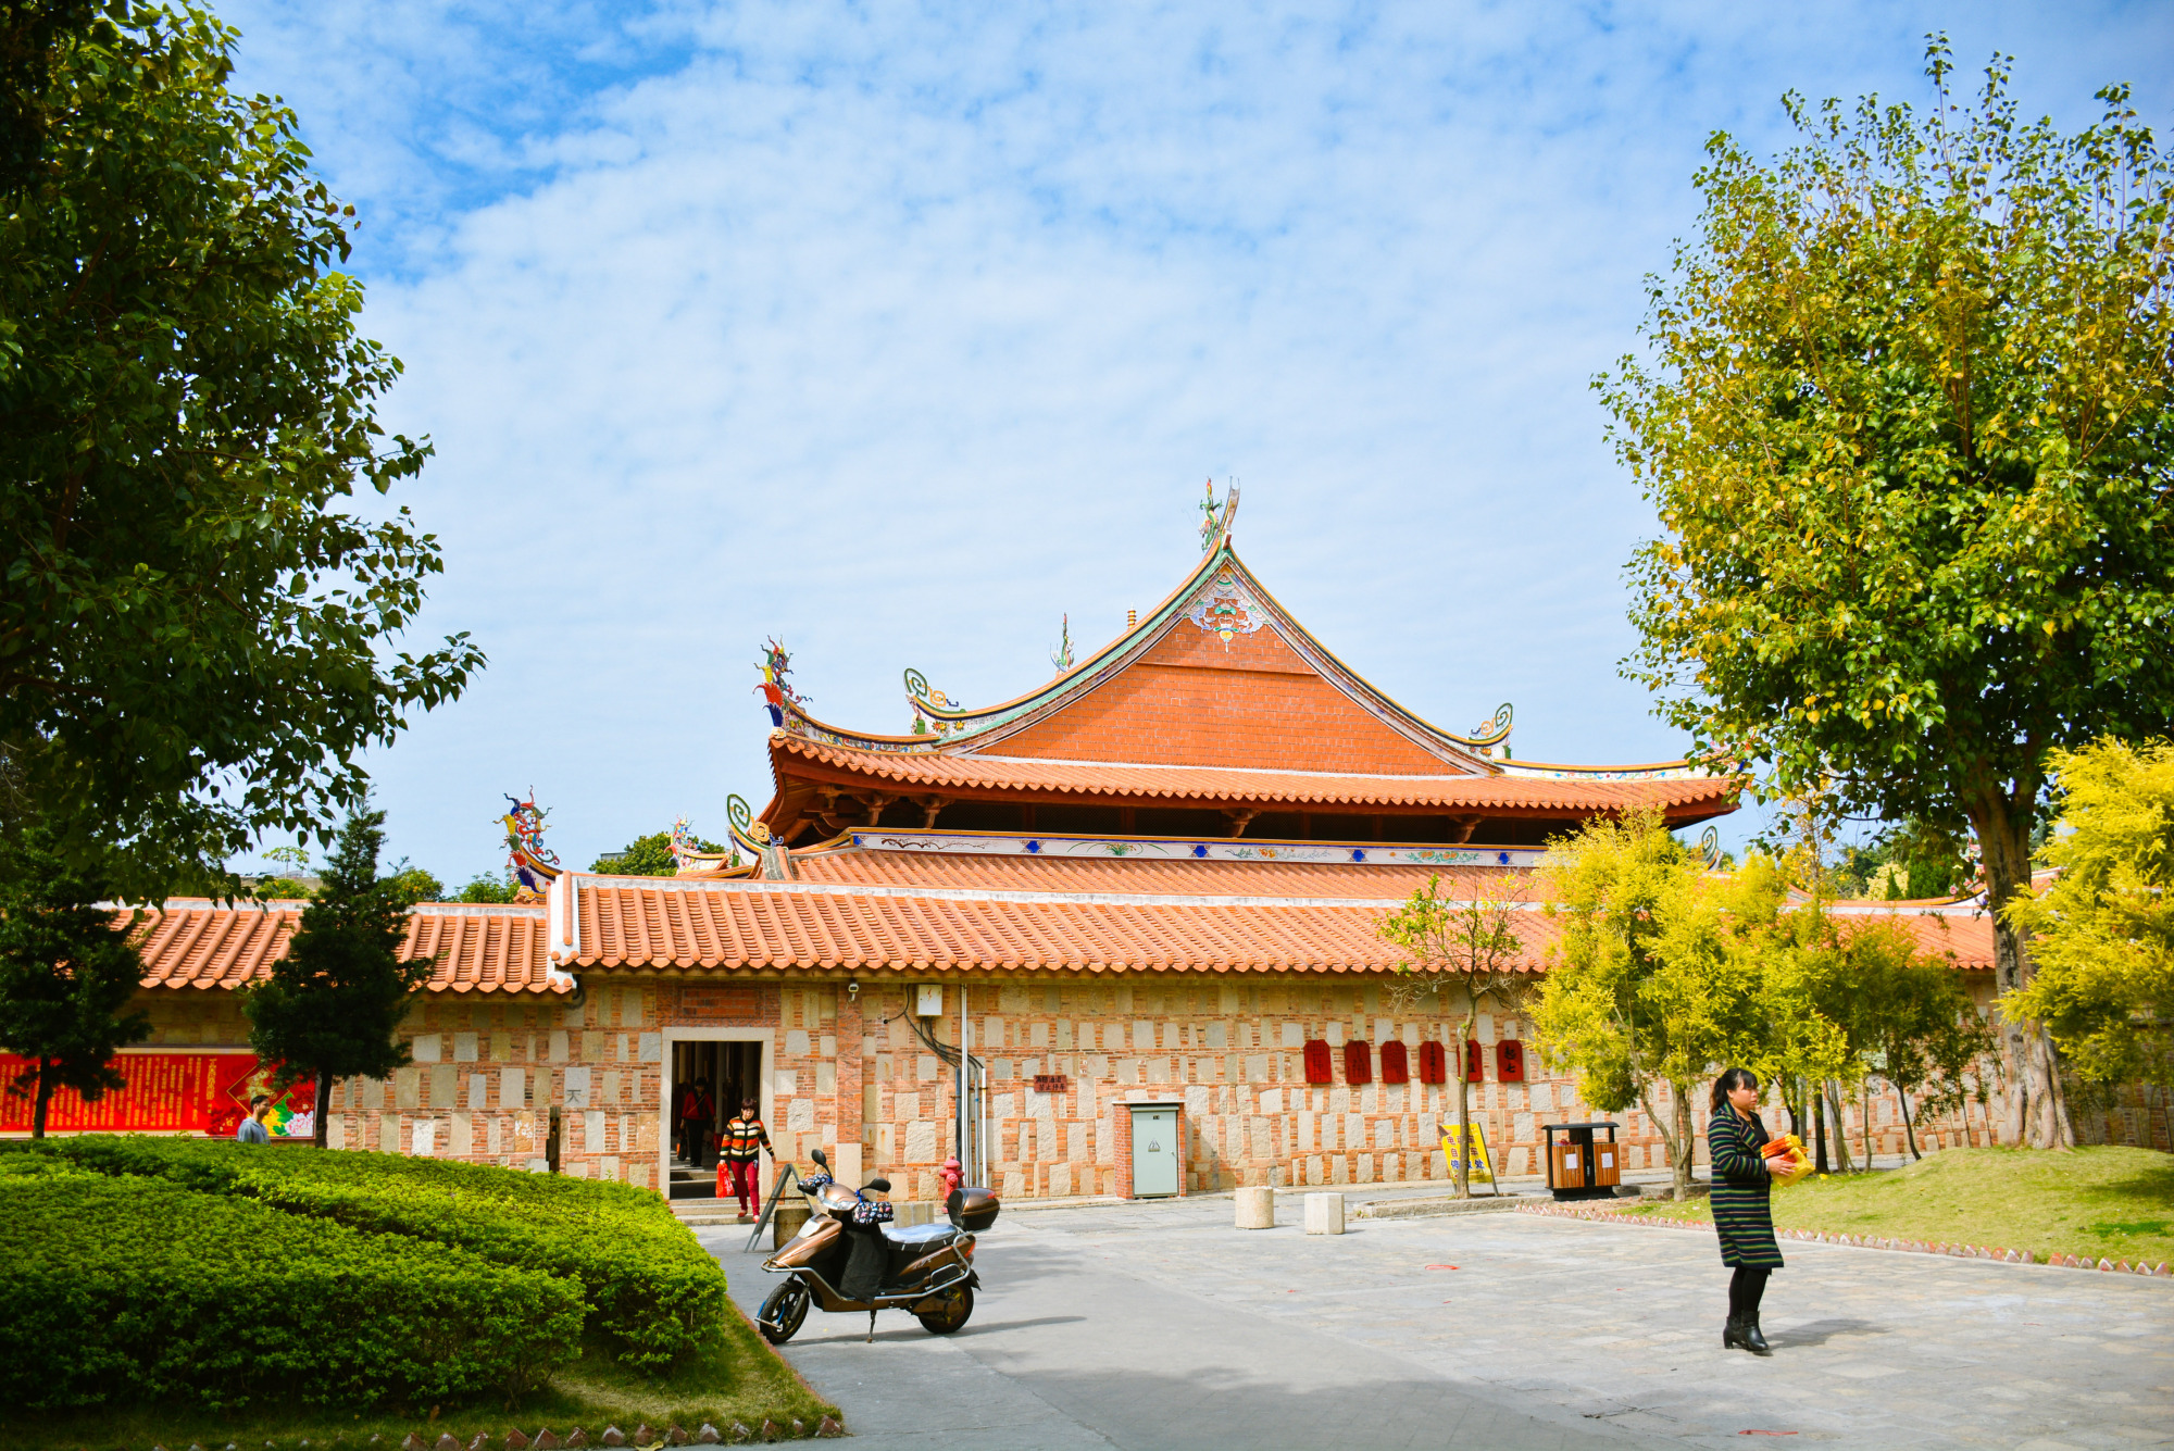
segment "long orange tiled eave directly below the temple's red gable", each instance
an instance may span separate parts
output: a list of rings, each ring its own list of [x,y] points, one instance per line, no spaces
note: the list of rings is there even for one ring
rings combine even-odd
[[[1737,782],[1713,775],[1646,780],[1557,780],[1539,775],[1333,775],[1233,771],[1094,760],[928,756],[863,752],[772,732],[772,769],[783,788],[794,762],[828,767],[894,791],[959,788],[1157,802],[1287,802],[1291,806],[1402,806],[1435,810],[1600,812],[1661,806],[1702,819],[1731,810]]]

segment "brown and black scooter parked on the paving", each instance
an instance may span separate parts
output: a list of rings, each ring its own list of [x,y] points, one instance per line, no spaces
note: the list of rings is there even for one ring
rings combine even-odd
[[[813,1214],[763,1269],[787,1275],[770,1292],[754,1325],[772,1345],[785,1345],[800,1332],[809,1303],[828,1314],[867,1312],[867,1338],[876,1338],[878,1310],[907,1310],[922,1329],[948,1336],[974,1314],[974,1232],[996,1223],[998,1199],[987,1188],[954,1188],[944,1201],[948,1225],[859,1223],[861,1206],[874,1203],[870,1193],[891,1193],[889,1179],[870,1179],[865,1188],[846,1188],[830,1177],[830,1160],[822,1149],[811,1153],[824,1171],[802,1184],[813,1201]],[[859,1256],[859,1260],[857,1260]],[[874,1288],[848,1297],[846,1286]]]

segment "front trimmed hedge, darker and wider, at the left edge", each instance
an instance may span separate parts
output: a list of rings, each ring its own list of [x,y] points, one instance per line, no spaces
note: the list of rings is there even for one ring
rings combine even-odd
[[[17,1162],[0,1166],[0,1403],[35,1412],[511,1399],[580,1340],[580,1288],[539,1271]]]

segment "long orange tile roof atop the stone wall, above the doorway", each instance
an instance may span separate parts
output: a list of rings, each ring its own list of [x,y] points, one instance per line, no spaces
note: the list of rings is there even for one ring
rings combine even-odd
[[[1241,901],[576,878],[570,967],[604,971],[991,971],[1385,973],[1374,901]],[[1898,914],[1959,967],[1991,964],[1991,928],[1967,914]],[[1511,919],[1539,971],[1554,923]]]

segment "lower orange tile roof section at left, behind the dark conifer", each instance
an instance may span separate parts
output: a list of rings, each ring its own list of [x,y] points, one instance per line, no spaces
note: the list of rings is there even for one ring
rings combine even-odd
[[[122,917],[126,921],[126,917]],[[239,988],[287,954],[300,906],[254,908],[167,901],[137,923],[146,988]],[[544,908],[422,904],[409,914],[400,958],[439,958],[433,993],[570,993],[552,980]]]

